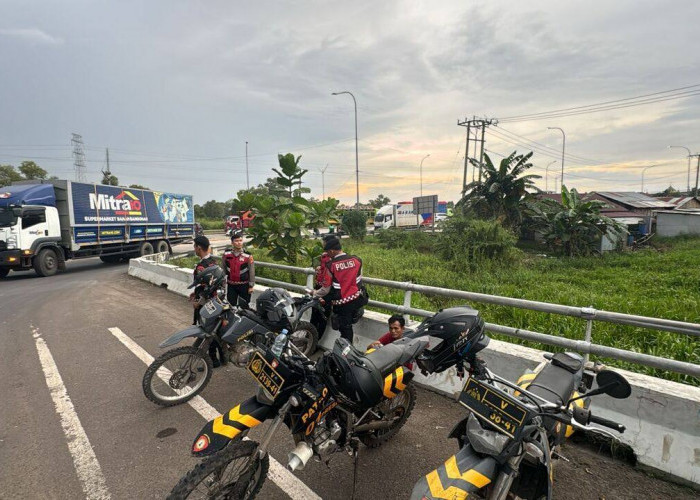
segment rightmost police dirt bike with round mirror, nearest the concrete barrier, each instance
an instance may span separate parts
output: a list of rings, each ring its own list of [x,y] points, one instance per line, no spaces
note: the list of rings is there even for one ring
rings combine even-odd
[[[593,415],[589,398],[608,394],[624,399],[630,385],[602,365],[584,363],[576,353],[545,354],[545,361],[517,384],[509,382],[477,356],[488,337],[478,312],[470,314],[471,332],[465,338],[472,341],[465,342],[466,349],[454,360],[458,371],[468,365],[470,375],[459,395],[468,415],[449,434],[457,439],[459,451],[416,483],[411,500],[550,499],[553,460],[561,456],[559,448],[574,429],[613,438],[589,424],[625,430]],[[447,368],[429,358],[418,357],[417,362],[426,372]],[[594,380],[597,388],[591,390]]]

